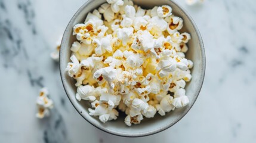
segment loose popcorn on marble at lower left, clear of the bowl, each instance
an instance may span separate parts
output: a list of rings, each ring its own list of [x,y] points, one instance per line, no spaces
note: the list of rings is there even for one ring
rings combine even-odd
[[[48,94],[48,89],[42,88],[39,97],[36,100],[36,104],[38,105],[38,113],[36,113],[36,117],[39,119],[42,119],[45,116],[50,116],[50,109],[53,108],[53,101],[48,98]]]

